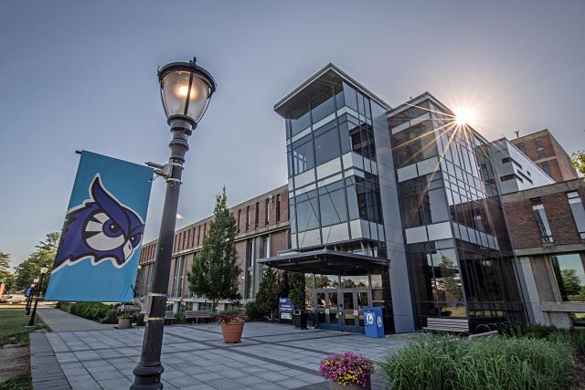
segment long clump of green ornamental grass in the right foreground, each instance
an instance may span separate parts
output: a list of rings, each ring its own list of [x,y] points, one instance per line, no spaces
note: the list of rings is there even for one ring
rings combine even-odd
[[[544,390],[565,385],[571,364],[559,340],[423,335],[380,367],[392,389]]]

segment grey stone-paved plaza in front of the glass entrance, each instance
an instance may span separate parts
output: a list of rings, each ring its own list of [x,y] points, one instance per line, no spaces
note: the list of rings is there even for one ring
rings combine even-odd
[[[132,384],[144,328],[46,334],[73,389],[124,389]],[[368,339],[263,322],[247,323],[243,336],[242,343],[226,344],[216,324],[165,327],[165,389],[322,390],[328,385],[318,366],[328,353],[351,351],[379,359],[408,343],[400,336]],[[373,388],[384,388],[379,373]]]

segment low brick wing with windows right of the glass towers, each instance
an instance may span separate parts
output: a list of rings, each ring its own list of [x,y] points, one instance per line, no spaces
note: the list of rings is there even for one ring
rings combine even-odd
[[[585,210],[581,179],[502,196],[530,321],[585,324]]]

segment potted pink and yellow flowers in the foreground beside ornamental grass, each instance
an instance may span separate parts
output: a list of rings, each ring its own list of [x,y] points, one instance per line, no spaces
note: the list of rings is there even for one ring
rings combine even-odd
[[[374,362],[356,353],[330,354],[321,361],[319,374],[329,379],[331,390],[367,390],[372,388]]]

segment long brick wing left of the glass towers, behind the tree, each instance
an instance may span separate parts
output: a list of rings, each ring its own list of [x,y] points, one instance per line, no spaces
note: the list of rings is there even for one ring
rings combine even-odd
[[[266,194],[256,196],[230,208],[238,225],[236,252],[239,269],[242,270],[239,292],[244,299],[253,298],[261,279],[260,258],[276,256],[288,248],[289,205],[286,185]],[[189,292],[187,272],[193,258],[201,250],[203,237],[209,229],[212,218],[197,221],[175,233],[167,304],[170,309],[207,310],[207,300]],[[154,258],[157,240],[143,245],[140,254],[140,269],[136,282],[138,295],[146,294],[154,276]],[[220,302],[225,306],[228,302]]]

